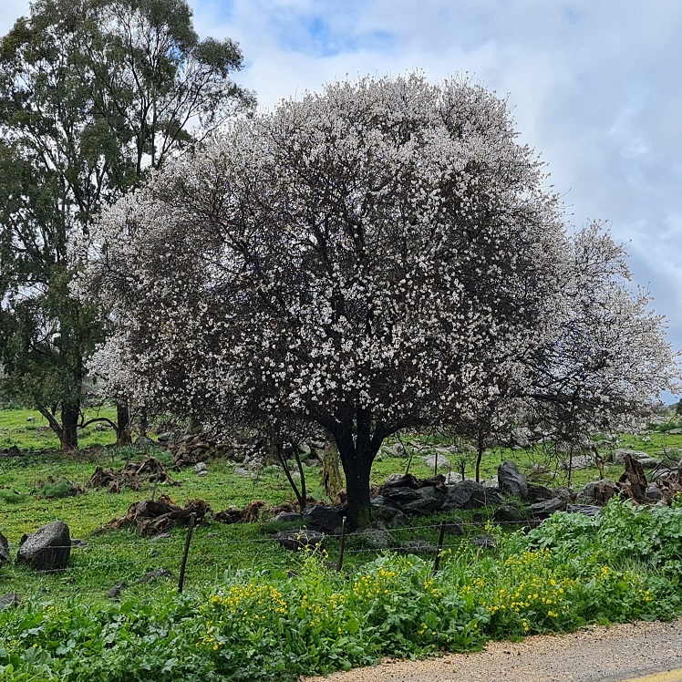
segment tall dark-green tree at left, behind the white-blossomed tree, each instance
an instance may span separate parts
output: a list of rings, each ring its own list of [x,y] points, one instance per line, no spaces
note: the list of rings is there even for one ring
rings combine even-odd
[[[68,241],[253,96],[231,40],[182,0],[37,0],[0,42],[3,389],[78,446],[84,358],[105,330],[69,294]],[[126,395],[119,395],[123,405]],[[119,409],[124,438],[126,409]]]

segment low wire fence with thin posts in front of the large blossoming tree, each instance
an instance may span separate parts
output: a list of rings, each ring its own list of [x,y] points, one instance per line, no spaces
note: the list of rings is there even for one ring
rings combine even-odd
[[[520,527],[519,522],[501,521],[495,522],[495,525]],[[298,532],[301,544],[305,547],[308,530],[302,528]],[[495,542],[484,522],[464,522],[451,518],[441,522],[414,523],[355,533],[346,533],[344,526],[340,533],[325,535],[324,541],[316,548],[313,546],[312,551],[321,552],[322,547],[325,547],[325,559],[330,568],[346,573],[361,570],[363,563],[387,552],[418,554],[433,561],[434,571],[438,571],[445,550],[459,548],[462,543],[470,543],[484,550]],[[182,542],[184,547],[181,546]],[[10,542],[8,549],[10,555],[15,557],[19,543]],[[190,529],[184,537],[180,533],[149,539],[139,535],[129,538],[118,536],[111,543],[78,540],[69,545],[51,545],[49,548],[49,552],[55,554],[66,550],[70,553],[67,566],[49,572],[15,563],[10,573],[6,573],[5,566],[5,584],[6,578],[25,590],[30,589],[32,582],[42,589],[50,583],[55,584],[55,587],[74,584],[78,586],[78,594],[102,595],[121,584],[144,585],[165,580],[168,584],[177,583],[178,589],[182,591],[185,575],[188,587],[199,589],[234,567],[246,566],[247,571],[253,570],[255,573],[279,560],[280,568],[294,568],[297,558],[295,553],[281,546],[277,534],[250,537],[240,545],[234,539],[209,538],[204,533],[201,544],[197,546],[191,544]],[[186,566],[186,572],[183,566]],[[85,572],[90,573],[90,579],[83,579]]]

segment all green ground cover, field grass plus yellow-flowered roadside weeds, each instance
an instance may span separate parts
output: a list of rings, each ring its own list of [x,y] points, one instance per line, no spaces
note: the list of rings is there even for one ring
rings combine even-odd
[[[209,515],[194,530],[185,593],[179,595],[185,528],[149,539],[129,530],[98,532],[102,524],[123,516],[131,503],[160,494],[181,505],[202,499],[213,511],[253,500],[292,501],[282,470],[244,474],[233,462],[209,460],[202,477],[193,468],[169,469],[180,485],[145,483],[138,491],[110,493],[88,488],[95,468],[118,470],[147,455],[134,447],[87,449],[113,442],[113,432],[101,427],[82,434],[84,451],[59,454],[46,426],[35,413],[0,410],[0,448],[22,451],[0,457],[0,531],[12,553],[24,533],[57,519],[78,540],[65,571],[35,573],[14,563],[0,568],[0,595],[22,599],[18,609],[0,609],[0,677],[8,682],[283,682],[381,656],[437,655],[477,648],[490,638],[682,612],[679,503],[636,510],[615,501],[596,519],[558,514],[529,533],[493,525],[487,510],[410,517],[390,532],[391,547],[402,546],[402,555],[353,534],[341,573],[328,565],[336,561],[335,538],[325,553],[291,553],[274,538],[282,525],[268,518],[225,525]],[[682,435],[668,432],[678,426],[622,436],[612,446],[679,459]],[[406,434],[402,444],[414,450],[411,459],[400,455],[398,440],[388,442],[374,482],[408,469],[431,475],[422,458],[451,442]],[[148,454],[170,468],[169,452],[154,448]],[[463,457],[471,476],[472,456]],[[459,456],[450,459],[459,470]],[[510,459],[527,473],[542,465],[535,480],[545,485],[566,482],[556,457],[537,449],[487,452],[483,477]],[[622,472],[616,465],[605,470],[615,479]],[[324,499],[319,466],[306,464],[305,475],[311,494]],[[597,477],[594,468],[578,470],[573,485]],[[82,492],[47,497],[50,481],[61,479]],[[442,519],[451,523],[440,572],[433,575]],[[476,536],[485,542],[471,542]],[[160,576],[140,582],[161,569]],[[116,585],[119,594],[111,598]]]

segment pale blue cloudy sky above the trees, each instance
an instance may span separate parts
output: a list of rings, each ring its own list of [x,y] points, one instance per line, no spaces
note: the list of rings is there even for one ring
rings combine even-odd
[[[0,35],[28,13],[0,4]],[[242,47],[263,110],[336,79],[468,72],[507,98],[570,228],[625,243],[682,349],[682,2],[190,0],[201,36]]]

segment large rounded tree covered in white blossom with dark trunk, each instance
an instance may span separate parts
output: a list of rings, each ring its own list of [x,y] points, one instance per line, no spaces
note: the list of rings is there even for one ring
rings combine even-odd
[[[348,520],[399,429],[526,390],[570,265],[556,196],[479,85],[340,82],[233,121],[83,246],[117,333],[94,362],[147,405],[324,427]]]

